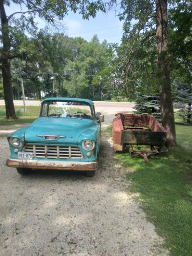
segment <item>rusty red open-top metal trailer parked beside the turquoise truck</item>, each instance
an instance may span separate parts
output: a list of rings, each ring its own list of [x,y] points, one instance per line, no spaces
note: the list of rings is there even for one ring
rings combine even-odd
[[[158,155],[166,140],[166,130],[152,115],[117,113],[113,120],[113,147],[116,151],[129,148],[132,157]],[[150,150],[132,145],[148,145]]]

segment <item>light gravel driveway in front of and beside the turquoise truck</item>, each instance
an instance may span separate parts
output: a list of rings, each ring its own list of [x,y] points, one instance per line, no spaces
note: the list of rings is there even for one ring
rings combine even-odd
[[[21,177],[5,166],[1,142],[0,255],[155,255],[162,239],[146,220],[122,169],[102,139],[92,178],[76,172],[34,170]]]

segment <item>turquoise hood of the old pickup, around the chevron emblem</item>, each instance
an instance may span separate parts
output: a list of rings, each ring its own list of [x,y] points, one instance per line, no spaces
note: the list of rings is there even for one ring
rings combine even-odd
[[[77,144],[79,136],[94,126],[92,119],[39,117],[25,131],[25,141],[49,144]],[[61,136],[56,141],[45,135]]]

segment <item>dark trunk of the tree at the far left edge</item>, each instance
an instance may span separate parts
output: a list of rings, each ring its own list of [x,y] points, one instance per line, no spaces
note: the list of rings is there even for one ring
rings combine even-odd
[[[0,0],[0,15],[2,25],[3,51],[1,55],[1,69],[3,77],[3,88],[5,98],[6,117],[15,119],[15,108],[13,104],[13,89],[11,82],[9,20],[5,13],[4,1]]]

